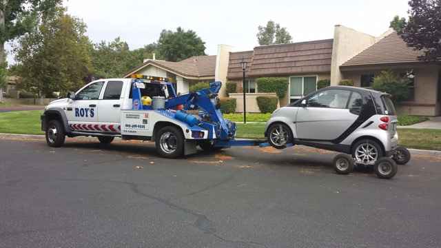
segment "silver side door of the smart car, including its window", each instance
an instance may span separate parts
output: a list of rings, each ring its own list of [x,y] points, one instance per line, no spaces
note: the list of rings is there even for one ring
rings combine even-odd
[[[300,139],[332,141],[347,130],[358,118],[349,110],[350,90],[322,90],[306,99],[306,105],[298,108],[296,131]],[[358,96],[356,95],[358,94]]]

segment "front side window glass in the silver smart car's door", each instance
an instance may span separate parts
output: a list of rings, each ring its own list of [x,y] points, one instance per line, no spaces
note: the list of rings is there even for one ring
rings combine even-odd
[[[323,90],[309,97],[308,107],[347,108],[351,92],[348,90]]]

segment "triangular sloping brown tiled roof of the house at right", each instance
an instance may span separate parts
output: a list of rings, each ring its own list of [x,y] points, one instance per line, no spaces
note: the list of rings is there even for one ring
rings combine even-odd
[[[420,63],[418,56],[423,54],[424,52],[409,47],[396,32],[392,32],[353,56],[340,65],[340,68],[358,65]]]

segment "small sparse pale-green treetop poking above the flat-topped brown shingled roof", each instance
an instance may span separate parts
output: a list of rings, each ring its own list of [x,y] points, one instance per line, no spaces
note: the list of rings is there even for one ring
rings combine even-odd
[[[259,45],[286,44],[292,41],[287,28],[280,28],[280,24],[274,21],[268,21],[265,27],[258,26],[257,39]]]

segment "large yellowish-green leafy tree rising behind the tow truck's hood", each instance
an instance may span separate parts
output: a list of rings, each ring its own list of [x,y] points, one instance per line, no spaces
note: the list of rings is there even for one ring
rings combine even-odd
[[[83,85],[92,65],[92,44],[85,31],[83,21],[59,8],[42,19],[34,31],[23,35],[14,49],[23,87],[44,97]]]

